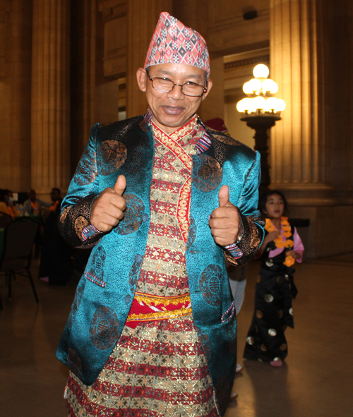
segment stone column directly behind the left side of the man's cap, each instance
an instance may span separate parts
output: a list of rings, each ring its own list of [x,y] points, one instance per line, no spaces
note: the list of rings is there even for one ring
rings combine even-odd
[[[172,14],[172,0],[128,1],[128,61],[126,71],[126,116],[145,114],[147,102],[138,89],[136,71],[145,57],[162,11]]]

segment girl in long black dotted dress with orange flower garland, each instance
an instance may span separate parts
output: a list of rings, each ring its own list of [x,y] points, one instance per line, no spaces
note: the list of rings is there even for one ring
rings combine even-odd
[[[288,349],[287,326],[294,328],[292,298],[297,296],[292,265],[301,262],[303,243],[289,224],[287,200],[280,191],[268,191],[261,200],[266,217],[265,238],[258,251],[262,264],[256,284],[255,311],[246,338],[244,358],[282,366]]]

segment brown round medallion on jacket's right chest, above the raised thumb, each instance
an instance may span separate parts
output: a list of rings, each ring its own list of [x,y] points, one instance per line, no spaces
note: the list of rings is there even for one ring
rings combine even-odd
[[[217,159],[208,155],[197,155],[193,160],[193,185],[199,191],[209,193],[221,183],[223,169]]]

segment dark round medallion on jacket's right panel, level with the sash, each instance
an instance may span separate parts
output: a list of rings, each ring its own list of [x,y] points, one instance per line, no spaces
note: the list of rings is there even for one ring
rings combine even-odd
[[[199,288],[203,299],[210,306],[219,306],[221,302],[222,268],[219,265],[208,265],[201,274]]]

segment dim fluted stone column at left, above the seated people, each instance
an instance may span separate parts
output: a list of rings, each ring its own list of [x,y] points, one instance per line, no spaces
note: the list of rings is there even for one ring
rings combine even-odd
[[[70,181],[70,0],[34,0],[32,35],[32,188]]]

